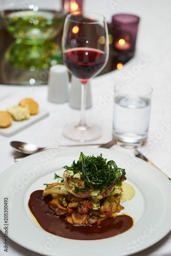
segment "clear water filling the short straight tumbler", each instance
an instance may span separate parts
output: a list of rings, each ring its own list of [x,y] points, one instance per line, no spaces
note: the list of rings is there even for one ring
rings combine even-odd
[[[126,143],[147,137],[151,102],[147,98],[118,96],[114,102],[113,136]]]

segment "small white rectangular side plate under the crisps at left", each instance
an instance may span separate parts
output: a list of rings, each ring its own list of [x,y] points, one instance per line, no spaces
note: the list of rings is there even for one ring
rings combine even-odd
[[[39,121],[40,119],[49,115],[49,112],[44,109],[39,109],[37,115],[31,115],[28,120],[12,121],[11,125],[7,128],[0,128],[0,134],[4,136],[12,136],[15,133],[25,129],[29,125]]]

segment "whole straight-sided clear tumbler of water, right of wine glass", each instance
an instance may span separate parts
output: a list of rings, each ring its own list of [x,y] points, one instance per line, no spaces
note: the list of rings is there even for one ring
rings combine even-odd
[[[115,86],[113,137],[123,146],[140,146],[147,139],[153,89],[144,83]]]

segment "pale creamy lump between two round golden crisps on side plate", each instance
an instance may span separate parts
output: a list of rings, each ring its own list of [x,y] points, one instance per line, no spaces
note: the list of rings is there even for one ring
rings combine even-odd
[[[12,106],[7,109],[7,112],[13,117],[16,121],[22,121],[30,118],[30,112],[24,106]]]

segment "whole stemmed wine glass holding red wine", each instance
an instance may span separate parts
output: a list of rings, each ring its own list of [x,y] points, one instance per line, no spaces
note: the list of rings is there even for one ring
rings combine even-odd
[[[108,27],[101,14],[68,14],[62,36],[62,59],[70,73],[81,81],[81,116],[78,124],[70,123],[63,135],[75,141],[91,141],[102,135],[96,124],[85,119],[87,82],[105,67],[109,57]]]

